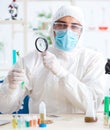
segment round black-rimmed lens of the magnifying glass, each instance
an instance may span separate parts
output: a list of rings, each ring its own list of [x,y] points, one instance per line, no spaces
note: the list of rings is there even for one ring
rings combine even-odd
[[[38,37],[35,41],[35,47],[39,52],[44,52],[48,49],[48,42],[45,38]]]

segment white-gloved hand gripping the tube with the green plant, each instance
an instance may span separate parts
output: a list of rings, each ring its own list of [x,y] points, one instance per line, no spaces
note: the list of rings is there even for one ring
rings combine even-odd
[[[26,78],[25,72],[23,69],[14,68],[8,73],[8,82],[10,88],[16,88],[17,85],[20,85]]]

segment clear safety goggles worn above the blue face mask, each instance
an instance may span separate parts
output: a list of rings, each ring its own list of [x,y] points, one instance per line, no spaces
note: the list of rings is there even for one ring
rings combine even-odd
[[[67,29],[67,28],[70,28],[73,32],[78,32],[78,33],[81,33],[83,27],[81,25],[78,25],[76,23],[70,23],[70,24],[67,24],[67,23],[64,23],[64,22],[55,22],[53,24],[53,29],[54,30],[63,30],[63,29]]]

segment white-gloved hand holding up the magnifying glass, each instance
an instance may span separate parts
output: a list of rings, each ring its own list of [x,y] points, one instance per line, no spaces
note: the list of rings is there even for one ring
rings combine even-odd
[[[64,77],[68,71],[64,69],[56,56],[48,51],[42,53],[44,66],[58,77]]]

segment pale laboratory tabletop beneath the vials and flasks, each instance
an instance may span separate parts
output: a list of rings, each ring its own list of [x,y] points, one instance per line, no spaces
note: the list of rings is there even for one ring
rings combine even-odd
[[[35,116],[35,115],[29,115],[24,114],[21,115],[25,119],[27,116]],[[37,115],[36,115],[37,116]],[[46,130],[106,130],[110,129],[109,126],[104,126],[104,120],[103,120],[103,112],[97,113],[98,120],[97,122],[87,123],[84,121],[85,115],[83,114],[64,114],[64,115],[48,115],[47,119],[51,120],[51,124],[47,124],[47,127],[40,128],[38,125],[36,127],[28,127],[26,128],[23,126],[23,130],[37,130],[37,129],[46,129]],[[2,114],[0,115],[0,121],[1,120],[12,120],[12,115],[8,114]],[[12,123],[8,123],[5,125],[0,126],[0,130],[13,130]],[[17,130],[20,128],[16,128]]]

